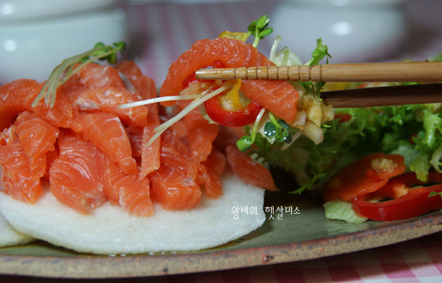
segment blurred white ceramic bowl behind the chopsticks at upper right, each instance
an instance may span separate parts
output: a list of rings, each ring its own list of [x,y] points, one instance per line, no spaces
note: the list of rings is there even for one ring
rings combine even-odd
[[[329,63],[381,60],[391,55],[406,34],[401,0],[283,1],[270,16],[282,46],[307,61],[317,38],[329,47]]]

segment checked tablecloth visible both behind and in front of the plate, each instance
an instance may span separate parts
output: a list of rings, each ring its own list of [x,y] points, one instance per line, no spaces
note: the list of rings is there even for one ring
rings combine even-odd
[[[133,41],[130,56],[143,72],[161,83],[170,63],[200,38],[222,30],[243,30],[269,14],[277,1],[224,4],[150,3],[124,6]],[[442,51],[442,1],[408,1],[408,39],[386,61],[423,60]],[[200,24],[204,22],[205,24]],[[185,24],[183,24],[185,23]],[[64,282],[3,276],[1,282]],[[66,282],[71,280],[66,280]],[[100,282],[441,282],[442,233],[395,245],[304,262],[274,264],[169,277],[104,279]]]

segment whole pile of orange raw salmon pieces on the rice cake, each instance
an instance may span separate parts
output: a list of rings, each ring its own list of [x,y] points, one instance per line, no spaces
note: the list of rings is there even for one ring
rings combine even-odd
[[[50,190],[83,214],[109,201],[146,217],[155,213],[153,202],[183,210],[202,193],[222,195],[226,164],[245,182],[274,188],[268,170],[198,110],[147,146],[170,117],[158,104],[118,108],[158,96],[132,61],[115,68],[88,64],[58,88],[53,108],[43,101],[31,106],[42,87],[28,79],[0,87],[1,190],[18,200],[36,203]]]

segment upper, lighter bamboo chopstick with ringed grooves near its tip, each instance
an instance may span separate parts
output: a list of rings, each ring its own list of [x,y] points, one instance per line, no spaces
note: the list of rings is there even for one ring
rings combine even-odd
[[[207,68],[196,71],[206,80],[279,80],[342,82],[438,82],[442,81],[442,62],[349,63],[315,66],[260,66]]]

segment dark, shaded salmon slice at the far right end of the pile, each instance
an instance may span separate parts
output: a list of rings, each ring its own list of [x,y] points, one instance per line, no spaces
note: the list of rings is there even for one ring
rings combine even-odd
[[[232,168],[233,173],[243,182],[266,190],[277,190],[272,174],[267,168],[255,163],[252,158],[238,150],[235,145],[227,145],[225,152],[227,163]]]

